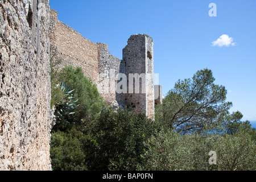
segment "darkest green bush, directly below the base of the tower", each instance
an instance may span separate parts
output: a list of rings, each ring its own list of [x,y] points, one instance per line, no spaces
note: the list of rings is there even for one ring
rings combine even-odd
[[[90,154],[86,159],[89,169],[136,170],[147,150],[143,142],[157,130],[158,125],[145,114],[102,110],[91,130]]]

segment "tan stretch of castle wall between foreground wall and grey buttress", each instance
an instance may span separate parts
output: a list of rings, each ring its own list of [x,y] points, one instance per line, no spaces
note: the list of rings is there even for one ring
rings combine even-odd
[[[81,67],[85,75],[97,84],[99,77],[97,44],[58,20],[57,11],[52,9],[49,29],[51,44],[57,47],[59,56],[63,58],[60,67],[64,67],[65,64],[75,68]]]

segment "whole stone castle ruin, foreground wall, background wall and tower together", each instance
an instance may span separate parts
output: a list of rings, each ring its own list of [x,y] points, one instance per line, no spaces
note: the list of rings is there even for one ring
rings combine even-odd
[[[81,67],[109,105],[154,119],[150,36],[132,35],[121,60],[60,22],[49,0],[0,0],[0,170],[51,170],[51,44],[61,66]]]

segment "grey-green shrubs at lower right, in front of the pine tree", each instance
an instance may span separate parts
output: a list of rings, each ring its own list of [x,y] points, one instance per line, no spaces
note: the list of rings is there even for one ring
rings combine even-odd
[[[155,171],[242,171],[255,170],[255,141],[246,131],[236,135],[224,130],[207,130],[182,135],[162,130],[146,143],[142,170]],[[210,151],[217,154],[217,164],[210,165]]]

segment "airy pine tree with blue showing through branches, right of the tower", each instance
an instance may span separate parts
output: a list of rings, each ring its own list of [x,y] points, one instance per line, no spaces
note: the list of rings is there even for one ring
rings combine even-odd
[[[226,102],[225,86],[214,84],[212,71],[197,71],[176,82],[156,108],[156,118],[184,133],[203,129],[206,123],[224,121],[232,102]]]

